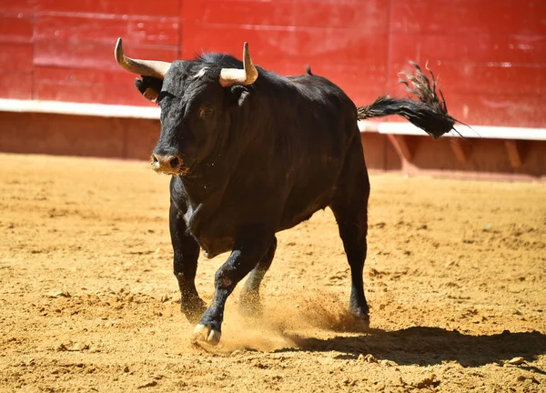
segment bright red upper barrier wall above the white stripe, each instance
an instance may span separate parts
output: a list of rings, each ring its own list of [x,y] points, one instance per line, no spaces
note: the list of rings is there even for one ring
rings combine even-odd
[[[301,74],[364,105],[403,94],[397,72],[427,60],[465,123],[546,126],[546,2],[531,0],[3,0],[0,98],[149,105],[113,56],[201,50]]]

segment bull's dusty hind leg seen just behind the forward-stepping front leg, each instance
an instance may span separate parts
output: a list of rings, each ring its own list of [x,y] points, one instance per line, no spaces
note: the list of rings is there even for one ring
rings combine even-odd
[[[240,311],[248,317],[259,317],[261,315],[261,303],[259,301],[259,286],[271,266],[275,250],[277,249],[277,237],[268,248],[266,254],[259,260],[258,265],[248,275],[245,286],[239,297]]]

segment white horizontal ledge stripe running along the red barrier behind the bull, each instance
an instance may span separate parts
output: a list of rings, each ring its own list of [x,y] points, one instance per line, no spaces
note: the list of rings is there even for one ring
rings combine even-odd
[[[116,106],[104,104],[80,104],[58,101],[16,100],[0,98],[0,111],[21,113],[53,113],[61,115],[134,117],[158,119],[158,106]],[[546,128],[506,127],[506,126],[456,126],[465,137],[546,140]],[[410,123],[381,123],[359,121],[360,132],[379,132],[380,134],[426,135],[420,128]],[[454,132],[446,136],[459,136]]]

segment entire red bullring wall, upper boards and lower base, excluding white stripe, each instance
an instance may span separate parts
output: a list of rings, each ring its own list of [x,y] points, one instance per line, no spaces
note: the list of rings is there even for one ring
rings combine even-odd
[[[202,50],[240,55],[248,41],[258,65],[285,75],[311,65],[357,105],[404,95],[399,70],[429,61],[452,116],[543,129],[543,15],[546,3],[531,0],[5,0],[0,99],[152,106],[114,61],[118,36],[128,55],[166,61]],[[6,110],[0,126],[0,151],[131,158],[149,156],[158,129],[157,120]],[[362,138],[369,166],[380,170],[546,173],[543,141]]]

